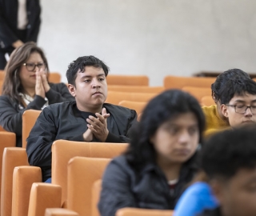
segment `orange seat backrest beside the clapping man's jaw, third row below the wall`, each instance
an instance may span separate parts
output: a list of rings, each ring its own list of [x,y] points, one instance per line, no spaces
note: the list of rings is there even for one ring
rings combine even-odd
[[[151,98],[154,98],[157,93],[135,93],[135,92],[118,92],[109,91],[107,94],[106,102],[118,105],[122,101],[132,102],[149,102]]]

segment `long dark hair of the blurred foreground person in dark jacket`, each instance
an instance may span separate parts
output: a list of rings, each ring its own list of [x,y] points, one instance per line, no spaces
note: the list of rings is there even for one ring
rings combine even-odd
[[[150,137],[164,122],[188,112],[192,112],[198,120],[199,142],[202,143],[205,116],[196,98],[182,90],[166,90],[150,100],[142,111],[140,122],[133,126],[130,133],[131,142],[125,154],[130,165],[143,166],[155,162],[156,152]]]

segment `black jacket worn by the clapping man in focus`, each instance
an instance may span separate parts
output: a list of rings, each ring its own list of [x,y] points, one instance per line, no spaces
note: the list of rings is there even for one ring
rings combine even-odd
[[[110,117],[106,119],[109,135],[106,142],[130,142],[130,127],[137,122],[135,110],[104,103]],[[27,138],[26,153],[31,166],[40,166],[42,180],[51,177],[51,146],[55,140],[65,139],[83,142],[87,130],[86,118],[78,110],[76,102],[62,102],[42,110]],[[94,139],[93,142],[99,142]]]

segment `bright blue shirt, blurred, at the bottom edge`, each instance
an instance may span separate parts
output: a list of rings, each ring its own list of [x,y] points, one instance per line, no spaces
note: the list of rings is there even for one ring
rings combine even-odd
[[[206,209],[218,206],[210,186],[206,182],[196,182],[189,186],[178,199],[174,216],[195,216]]]

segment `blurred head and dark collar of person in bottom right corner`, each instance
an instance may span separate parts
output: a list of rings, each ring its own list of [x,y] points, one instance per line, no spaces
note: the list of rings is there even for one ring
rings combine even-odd
[[[256,126],[215,134],[202,147],[202,170],[219,207],[201,216],[256,215]]]

